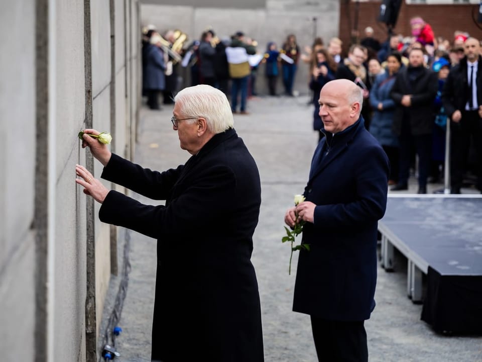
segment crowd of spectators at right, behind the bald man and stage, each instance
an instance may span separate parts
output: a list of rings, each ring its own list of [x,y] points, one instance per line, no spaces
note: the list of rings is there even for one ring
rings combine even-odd
[[[362,88],[365,127],[389,157],[392,191],[408,190],[416,164],[419,194],[427,193],[427,183],[441,182],[447,122],[450,192],[460,194],[462,186],[470,184],[482,191],[480,41],[463,31],[456,31],[452,42],[437,38],[420,17],[412,18],[410,25],[412,36],[392,34],[382,43],[367,27],[365,37],[349,47],[345,58],[339,39],[331,39],[326,49],[315,39],[312,56],[306,57],[313,128],[322,130],[318,95],[323,85],[333,79],[352,80]]]

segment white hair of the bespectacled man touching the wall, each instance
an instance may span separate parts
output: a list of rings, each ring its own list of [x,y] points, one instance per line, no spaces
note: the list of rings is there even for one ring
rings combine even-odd
[[[174,102],[179,102],[183,117],[205,118],[207,129],[214,134],[234,127],[226,95],[210,85],[199,84],[184,88],[174,97]]]

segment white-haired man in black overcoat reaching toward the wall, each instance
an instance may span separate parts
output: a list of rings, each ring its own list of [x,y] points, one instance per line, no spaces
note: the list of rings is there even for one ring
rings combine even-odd
[[[209,85],[175,97],[173,129],[184,165],[162,173],[142,168],[90,138],[101,177],[166,206],[143,205],[109,191],[84,167],[76,182],[102,204],[101,221],[156,238],[152,360],[261,362],[263,336],[253,233],[261,205],[255,160],[233,129],[226,96]]]

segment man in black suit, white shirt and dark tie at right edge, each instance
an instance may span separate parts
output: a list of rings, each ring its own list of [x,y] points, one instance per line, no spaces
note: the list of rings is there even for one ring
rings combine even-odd
[[[450,147],[451,193],[460,194],[470,139],[476,150],[477,187],[482,192],[482,56],[480,43],[468,38],[465,57],[450,70],[442,93],[452,131]]]

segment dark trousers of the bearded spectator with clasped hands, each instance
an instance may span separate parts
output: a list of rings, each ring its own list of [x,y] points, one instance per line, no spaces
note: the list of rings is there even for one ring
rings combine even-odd
[[[408,184],[412,147],[415,146],[418,154],[418,186],[422,188],[427,187],[427,177],[432,154],[432,134],[412,135],[410,119],[404,119],[402,122],[402,133],[398,139],[400,142],[400,172],[398,183],[403,185]]]

